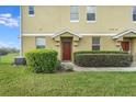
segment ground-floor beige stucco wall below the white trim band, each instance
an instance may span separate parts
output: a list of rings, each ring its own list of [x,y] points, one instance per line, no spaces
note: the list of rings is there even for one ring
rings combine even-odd
[[[61,59],[61,42],[56,42],[52,36],[45,36],[46,48],[53,48],[58,52],[58,58]],[[77,45],[75,45],[77,43]],[[35,49],[35,37],[23,37],[23,54]],[[72,53],[77,50],[91,50],[92,49],[92,36],[82,36],[79,42],[72,41]],[[115,46],[115,42],[111,36],[101,36],[101,50],[118,50]]]

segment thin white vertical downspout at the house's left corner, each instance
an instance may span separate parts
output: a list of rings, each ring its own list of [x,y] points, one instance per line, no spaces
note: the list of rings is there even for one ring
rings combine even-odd
[[[21,10],[22,8],[21,8],[21,5],[20,5],[20,57],[22,57],[23,55],[22,55],[22,26],[21,26],[21,24],[22,24],[22,10]]]

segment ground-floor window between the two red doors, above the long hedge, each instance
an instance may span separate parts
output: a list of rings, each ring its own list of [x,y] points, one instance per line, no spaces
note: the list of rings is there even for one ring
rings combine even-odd
[[[100,50],[100,37],[99,36],[92,37],[92,50]]]

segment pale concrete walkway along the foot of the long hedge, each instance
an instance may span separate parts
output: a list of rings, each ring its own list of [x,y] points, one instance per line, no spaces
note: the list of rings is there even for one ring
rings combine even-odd
[[[75,71],[136,71],[136,64],[131,67],[79,67],[73,65]]]

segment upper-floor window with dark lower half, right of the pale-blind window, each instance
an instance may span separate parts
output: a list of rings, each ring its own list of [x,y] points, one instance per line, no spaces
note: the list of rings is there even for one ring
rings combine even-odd
[[[95,7],[94,5],[87,7],[87,21],[95,21]]]

